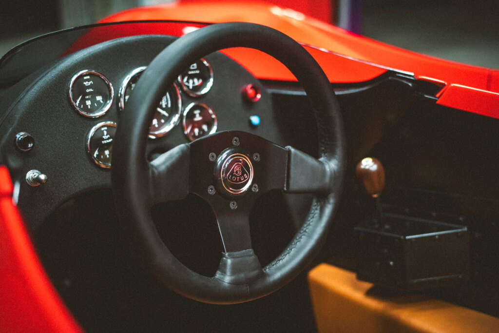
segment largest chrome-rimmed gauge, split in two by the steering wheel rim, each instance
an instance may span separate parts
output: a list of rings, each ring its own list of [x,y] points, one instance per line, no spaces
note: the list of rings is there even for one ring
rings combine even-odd
[[[139,67],[125,77],[119,93],[119,104],[122,111],[125,109],[125,104],[130,97],[130,93],[145,69],[146,67]],[[174,83],[163,95],[163,98],[161,98],[161,101],[156,107],[154,119],[149,128],[149,137],[154,139],[168,133],[179,122],[181,110],[182,103],[179,88]]]

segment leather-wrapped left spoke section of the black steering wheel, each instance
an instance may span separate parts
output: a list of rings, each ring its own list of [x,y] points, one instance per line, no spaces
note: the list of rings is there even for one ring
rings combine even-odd
[[[149,163],[151,205],[179,200],[189,194],[188,144],[179,145]]]

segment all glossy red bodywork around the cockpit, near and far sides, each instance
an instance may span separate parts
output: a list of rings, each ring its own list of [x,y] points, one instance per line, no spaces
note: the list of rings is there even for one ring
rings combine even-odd
[[[406,51],[274,4],[190,1],[130,9],[106,17],[101,22],[165,19],[264,24],[306,45],[313,45],[307,49],[331,82],[362,82],[388,69],[406,71],[443,87],[436,95],[438,104],[499,118],[499,70]],[[195,28],[203,25],[186,24]],[[150,29],[148,33],[151,33]],[[185,31],[158,33],[182,35]],[[97,39],[102,38],[103,41],[122,35],[127,33],[116,31],[111,25],[109,34]],[[96,40],[87,42],[90,45]],[[88,45],[85,45],[83,38],[74,48]],[[294,80],[286,68],[261,52],[238,48],[224,52],[258,78]],[[332,62],[331,52],[335,54]],[[43,271],[22,218],[12,203],[11,194],[8,171],[0,167],[0,328],[5,332],[80,332],[81,328]]]

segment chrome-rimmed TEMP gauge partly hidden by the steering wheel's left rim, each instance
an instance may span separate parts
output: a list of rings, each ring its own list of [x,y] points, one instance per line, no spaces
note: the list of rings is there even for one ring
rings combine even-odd
[[[113,154],[113,140],[116,132],[116,123],[103,121],[98,123],[87,136],[87,152],[92,160],[100,167],[109,169]]]

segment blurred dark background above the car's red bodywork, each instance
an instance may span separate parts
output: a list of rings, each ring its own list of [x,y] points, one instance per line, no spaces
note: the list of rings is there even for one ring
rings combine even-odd
[[[91,24],[119,10],[180,0],[9,0],[0,55],[31,37]],[[182,0],[194,1],[194,0]],[[267,0],[392,45],[499,68],[498,0]]]

